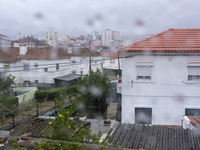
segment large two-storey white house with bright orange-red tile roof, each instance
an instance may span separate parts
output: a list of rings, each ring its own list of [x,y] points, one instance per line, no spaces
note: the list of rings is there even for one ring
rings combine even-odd
[[[181,125],[200,115],[200,29],[169,29],[119,52],[123,123]]]

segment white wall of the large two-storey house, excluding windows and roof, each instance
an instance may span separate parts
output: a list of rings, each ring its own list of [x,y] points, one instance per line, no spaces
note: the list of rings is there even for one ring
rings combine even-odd
[[[200,82],[187,81],[187,62],[200,56],[136,55],[122,59],[122,122],[135,123],[135,108],[152,108],[152,124],[181,125],[185,108],[200,109]],[[136,64],[153,62],[152,80],[136,79]]]

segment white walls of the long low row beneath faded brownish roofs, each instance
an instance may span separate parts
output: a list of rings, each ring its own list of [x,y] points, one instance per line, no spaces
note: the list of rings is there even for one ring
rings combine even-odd
[[[95,59],[98,60],[100,57],[92,57],[92,60]],[[75,63],[72,62],[74,60]],[[29,63],[29,70],[24,70],[24,63]],[[15,76],[15,83],[17,84],[24,83],[24,81],[34,83],[35,80],[38,80],[39,83],[54,83],[54,78],[56,77],[72,73],[81,74],[81,71],[83,71],[83,74],[87,74],[89,70],[89,58],[80,56],[58,60],[19,60],[15,63],[0,63],[1,70],[3,70],[4,64],[10,65],[7,70],[10,72],[6,72],[6,74]],[[35,64],[38,64],[38,67]],[[51,65],[47,66],[45,64]],[[59,64],[59,70],[56,70],[55,64]],[[44,68],[48,68],[48,71],[45,72]],[[92,62],[92,69],[95,71],[97,68],[101,69],[101,63],[99,61],[97,63]]]

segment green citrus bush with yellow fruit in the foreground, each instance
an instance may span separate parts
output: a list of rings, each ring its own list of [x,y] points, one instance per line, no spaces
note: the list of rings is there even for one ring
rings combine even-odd
[[[106,144],[105,141],[99,143],[101,133],[98,135],[92,134],[91,130],[85,129],[82,122],[77,120],[71,120],[71,116],[77,108],[77,102],[72,100],[69,96],[70,108],[63,109],[64,99],[56,99],[57,106],[60,112],[57,114],[55,121],[49,122],[49,126],[52,126],[53,131],[48,135],[47,139],[67,141],[66,142],[48,142],[45,141],[40,145],[40,149],[70,149],[70,150],[82,150],[83,147],[77,143],[92,142],[96,144]],[[73,142],[73,143],[70,143]],[[88,149],[88,148],[87,148]]]

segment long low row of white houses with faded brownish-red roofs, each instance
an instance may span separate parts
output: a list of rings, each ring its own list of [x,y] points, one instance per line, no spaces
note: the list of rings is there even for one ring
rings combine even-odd
[[[101,59],[99,53],[91,53],[93,61]],[[92,69],[101,68],[101,62]],[[95,64],[95,65],[94,65]],[[68,74],[87,74],[89,70],[88,49],[14,47],[0,49],[0,72],[15,76],[15,83],[54,83],[54,78]]]

